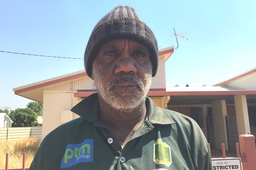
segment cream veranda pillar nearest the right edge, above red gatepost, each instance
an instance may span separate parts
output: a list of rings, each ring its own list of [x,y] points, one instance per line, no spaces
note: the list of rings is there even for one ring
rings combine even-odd
[[[245,95],[235,95],[236,122],[238,136],[242,134],[250,134],[249,116],[247,109],[247,101]]]

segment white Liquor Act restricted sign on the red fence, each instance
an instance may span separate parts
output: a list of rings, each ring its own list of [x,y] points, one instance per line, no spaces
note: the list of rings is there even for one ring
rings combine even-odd
[[[212,158],[212,169],[220,170],[220,169],[241,169],[241,158]]]

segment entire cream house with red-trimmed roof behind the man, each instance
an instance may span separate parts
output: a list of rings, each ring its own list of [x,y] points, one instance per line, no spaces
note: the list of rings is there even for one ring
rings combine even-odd
[[[256,80],[256,68],[215,86],[166,85],[165,61],[173,54],[174,47],[159,50],[157,75],[152,78],[150,97],[159,107],[171,109],[195,119],[211,146],[234,150],[238,135],[255,132],[251,112],[255,110],[256,88],[238,87],[236,83]],[[241,82],[240,82],[241,83]],[[255,85],[255,83],[254,83]],[[54,77],[14,88],[15,94],[43,103],[42,138],[59,125],[79,116],[70,109],[87,96],[95,93],[93,80],[85,70]],[[253,112],[253,111],[252,111]],[[249,120],[250,115],[250,120]],[[233,144],[234,143],[234,144]]]

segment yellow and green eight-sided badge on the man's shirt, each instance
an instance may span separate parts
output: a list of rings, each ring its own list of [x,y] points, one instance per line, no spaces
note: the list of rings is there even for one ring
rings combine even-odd
[[[165,164],[170,166],[172,164],[171,149],[166,143],[158,139],[154,145],[154,162],[156,164]]]

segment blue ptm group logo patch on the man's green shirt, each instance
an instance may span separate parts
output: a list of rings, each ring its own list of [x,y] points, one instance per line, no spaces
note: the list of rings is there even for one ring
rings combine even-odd
[[[93,139],[79,144],[68,144],[61,161],[61,169],[80,162],[93,162]]]

